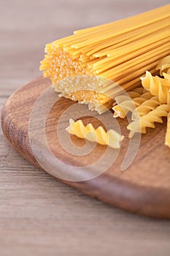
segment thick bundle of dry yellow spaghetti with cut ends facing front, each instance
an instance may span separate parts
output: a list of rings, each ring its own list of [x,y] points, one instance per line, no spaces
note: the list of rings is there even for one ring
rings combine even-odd
[[[102,113],[121,89],[140,84],[145,70],[155,75],[158,61],[170,54],[170,4],[130,18],[75,31],[46,45],[40,69],[55,91]],[[66,78],[90,75],[84,83]],[[91,76],[93,79],[91,79]],[[98,82],[97,77],[104,78]],[[95,79],[96,78],[96,79]],[[58,83],[61,81],[60,83]]]

